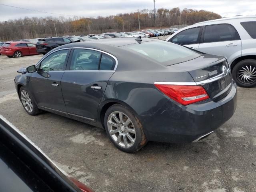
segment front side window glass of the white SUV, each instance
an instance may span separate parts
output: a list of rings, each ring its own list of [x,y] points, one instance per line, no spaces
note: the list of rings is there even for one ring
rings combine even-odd
[[[174,36],[171,41],[174,43],[178,43],[181,45],[188,45],[188,44],[197,44],[199,43],[199,33],[200,33],[200,27],[191,28],[184,30],[180,33],[178,33],[176,36]]]

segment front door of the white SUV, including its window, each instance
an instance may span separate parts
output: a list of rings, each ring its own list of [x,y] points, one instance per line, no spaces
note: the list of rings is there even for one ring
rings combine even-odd
[[[198,50],[202,27],[195,27],[183,30],[172,37],[169,41]]]

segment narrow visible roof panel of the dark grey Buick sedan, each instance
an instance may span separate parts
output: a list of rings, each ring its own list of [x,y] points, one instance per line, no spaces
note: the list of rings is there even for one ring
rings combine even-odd
[[[106,39],[98,39],[97,41],[90,41],[90,42],[79,42],[79,43],[72,43],[67,44],[65,47],[86,47],[86,46],[98,46],[99,48],[102,45],[109,45],[109,46],[124,46],[129,44],[136,44],[136,38],[106,38]],[[148,41],[155,41],[157,39],[149,39],[149,38],[142,38],[142,42]],[[61,46],[64,48],[64,46]]]

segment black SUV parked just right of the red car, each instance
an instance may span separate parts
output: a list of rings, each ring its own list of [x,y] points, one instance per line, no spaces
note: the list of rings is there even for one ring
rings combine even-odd
[[[50,50],[58,46],[66,45],[72,42],[74,41],[66,37],[51,37],[51,38],[38,39],[38,42],[36,43],[36,51],[38,53],[45,55]]]

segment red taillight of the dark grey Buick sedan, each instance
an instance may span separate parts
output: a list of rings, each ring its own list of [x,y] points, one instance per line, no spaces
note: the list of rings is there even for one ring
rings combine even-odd
[[[202,86],[154,84],[160,91],[182,105],[189,105],[209,98]]]

